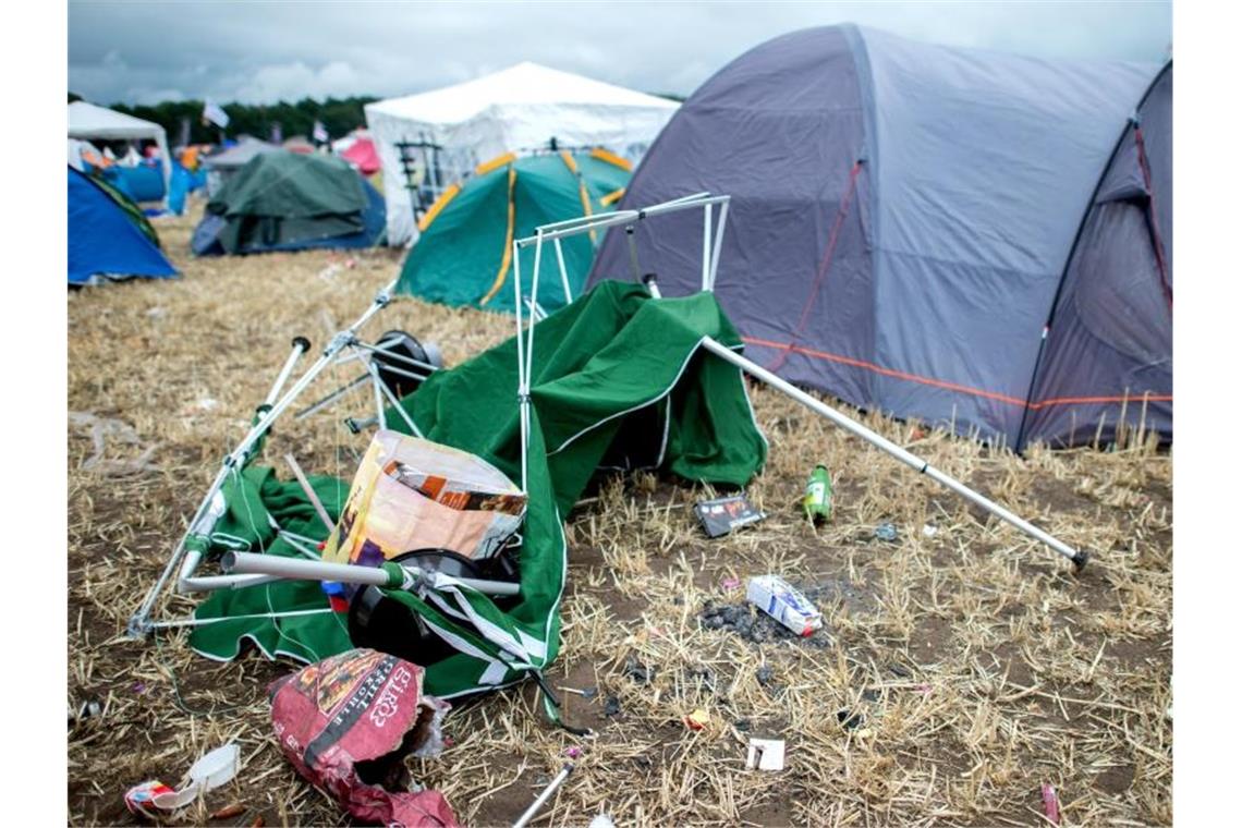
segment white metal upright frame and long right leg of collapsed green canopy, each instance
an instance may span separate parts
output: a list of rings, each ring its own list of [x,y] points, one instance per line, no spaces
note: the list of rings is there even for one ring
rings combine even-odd
[[[714,245],[712,243],[712,205],[720,204],[719,223],[715,232]],[[560,240],[568,236],[576,236],[580,233],[591,232],[600,227],[610,227],[617,225],[625,225],[626,235],[630,237],[630,264],[633,271],[636,279],[641,279],[647,289],[653,297],[661,298],[660,287],[656,282],[655,274],[640,276],[640,267],[637,261],[636,246],[633,243],[633,226],[638,221],[642,221],[651,216],[664,215],[674,212],[678,210],[688,210],[698,206],[704,209],[703,218],[703,274],[702,274],[702,289],[712,290],[715,286],[715,269],[719,262],[720,241],[724,235],[724,221],[728,215],[728,196],[713,196],[709,192],[697,192],[694,195],[686,196],[683,199],[674,199],[673,201],[666,201],[651,207],[645,207],[642,210],[625,210],[615,214],[605,214],[601,216],[587,216],[582,218],[571,218],[569,221],[561,221],[553,225],[543,225],[535,230],[534,236],[515,240],[513,242],[514,256],[513,256],[513,289],[517,309],[517,328],[518,328],[518,400],[522,406],[520,416],[520,428],[522,428],[522,490],[527,490],[527,443],[529,441],[530,430],[530,371],[534,361],[534,329],[537,319],[532,318],[530,324],[527,325],[525,331],[523,331],[522,324],[522,305],[523,305],[523,293],[522,293],[522,271],[519,267],[518,251],[522,247],[530,245],[535,246],[534,256],[534,274],[530,278],[530,302],[534,303],[534,297],[539,292],[539,263],[543,252],[543,245],[546,241],[551,241],[558,254],[560,252]],[[558,257],[559,258],[559,257]],[[560,261],[560,273],[564,282],[566,299],[569,298],[569,282],[565,274],[564,261]],[[525,334],[525,345],[523,346],[523,333]],[[881,449],[886,454],[895,458],[897,461],[909,466],[915,472],[925,474],[940,485],[945,487],[950,492],[970,500],[977,506],[981,506],[987,513],[995,515],[996,518],[1004,520],[1017,530],[1022,531],[1027,536],[1040,541],[1045,546],[1049,547],[1054,552],[1063,555],[1069,559],[1076,570],[1082,570],[1087,565],[1088,552],[1087,550],[1076,550],[1068,544],[1053,538],[1048,533],[1043,531],[1038,526],[1023,520],[1017,516],[1005,506],[990,500],[979,492],[975,492],[970,487],[965,485],[960,480],[950,477],[949,474],[935,468],[927,461],[910,452],[905,451],[897,443],[889,441],[882,434],[876,433],[871,428],[867,428],[858,421],[847,417],[840,411],[827,406],[821,400],[812,397],[801,389],[794,386],[792,384],[776,376],[768,369],[751,362],[740,354],[733,351],[728,346],[720,344],[710,336],[704,336],[700,345],[704,350],[714,354],[715,356],[735,365],[739,370],[749,374],[755,380],[764,382],[765,385],[776,389],[781,394],[791,397],[794,401],[806,406],[812,412],[820,415],[821,417],[831,421],[833,425],[845,428],[850,433],[861,437],[866,442],[871,443],[876,448]]]

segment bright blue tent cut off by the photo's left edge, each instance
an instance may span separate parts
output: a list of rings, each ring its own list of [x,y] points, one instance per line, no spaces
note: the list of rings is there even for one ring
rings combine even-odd
[[[106,184],[68,170],[68,283],[176,276],[137,205]]]

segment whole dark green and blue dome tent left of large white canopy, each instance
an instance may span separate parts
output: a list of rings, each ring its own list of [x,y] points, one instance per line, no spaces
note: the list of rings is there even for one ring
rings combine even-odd
[[[253,156],[207,202],[194,231],[199,256],[312,247],[373,247],[384,200],[348,163],[288,151]]]

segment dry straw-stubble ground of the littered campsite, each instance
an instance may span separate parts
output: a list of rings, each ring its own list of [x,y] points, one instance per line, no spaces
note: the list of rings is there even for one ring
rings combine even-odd
[[[175,785],[235,739],[238,780],[170,824],[348,824],[272,739],[266,686],[291,663],[250,652],[216,664],[181,634],[135,642],[123,631],[289,339],[320,345],[400,258],[193,259],[194,218],[158,223],[183,279],[68,297],[67,693],[71,709],[103,704],[70,724],[70,822],[133,824],[129,786]],[[412,300],[373,324],[438,341],[450,364],[512,331],[504,317]],[[348,379],[342,367],[307,398]],[[568,720],[596,736],[546,724],[533,686],[502,691],[462,704],[447,721],[453,744],[411,761],[415,778],[471,826],[512,823],[574,745],[578,770],[537,824],[580,828],[602,811],[619,826],[1030,826],[1043,823],[1046,782],[1062,824],[1170,823],[1171,456],[1135,446],[1020,459],[868,420],[1094,550],[1076,577],[777,394],[753,400],[771,443],[749,488],[768,511],[761,524],[707,540],[691,514],[704,489],[650,474],[604,482],[569,516],[565,639],[550,683],[599,688],[594,699],[563,693]],[[334,423],[366,411],[359,395],[335,416],[286,423],[266,457],[282,475],[278,458],[292,451],[307,469],[349,478],[365,438]],[[836,487],[833,520],[818,530],[796,508],[816,462]],[[886,521],[894,541],[874,538]],[[699,623],[707,602],[743,600],[730,578],[763,572],[811,588],[825,631],[756,643]],[[693,731],[683,716],[697,708],[709,722]],[[744,770],[748,736],[784,739],[785,770]],[[245,812],[210,818],[232,803]]]

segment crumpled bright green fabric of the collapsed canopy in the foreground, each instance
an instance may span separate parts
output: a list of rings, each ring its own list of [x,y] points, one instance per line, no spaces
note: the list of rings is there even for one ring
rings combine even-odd
[[[709,293],[653,299],[638,286],[600,283],[535,328],[530,381],[529,506],[519,554],[522,595],[502,611],[487,596],[446,578],[425,598],[390,592],[417,613],[456,653],[426,665],[426,690],[452,698],[503,686],[549,664],[560,646],[560,600],[565,586],[564,516],[601,464],[661,468],[691,480],[744,485],[763,467],[768,446],[754,421],[745,384],[732,365],[699,348],[704,336],[741,348],[733,325]],[[520,428],[514,339],[432,375],[401,401],[432,441],[473,452],[520,482]],[[401,430],[401,417],[389,417]],[[245,538],[262,528],[266,513],[299,521],[294,533],[315,538],[296,484],[281,484],[267,469],[247,469],[227,497],[226,535]],[[317,490],[339,509],[344,483],[318,478]],[[258,500],[255,503],[253,500]],[[235,503],[240,500],[241,505]],[[282,524],[283,526],[283,524]],[[251,546],[297,554],[273,530],[260,530]],[[220,529],[217,528],[217,535]],[[220,546],[232,538],[212,539]],[[318,588],[317,585],[312,585]],[[306,585],[263,585],[216,593],[200,618],[225,622],[195,628],[191,646],[212,658],[232,658],[238,639],[263,642],[265,650],[323,655],[340,639],[339,617],[260,617],[284,607],[325,605]],[[245,617],[241,617],[245,616]],[[334,627],[335,622],[335,627]],[[320,636],[322,633],[322,636]]]

